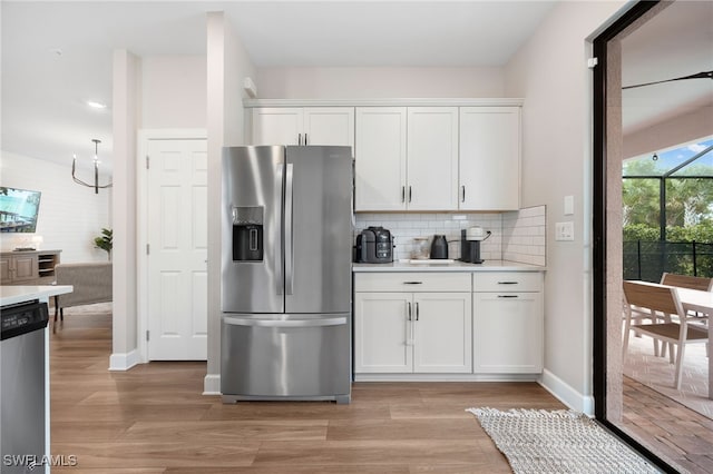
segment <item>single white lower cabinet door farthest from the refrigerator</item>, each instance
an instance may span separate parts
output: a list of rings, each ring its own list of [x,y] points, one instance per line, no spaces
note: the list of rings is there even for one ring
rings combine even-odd
[[[543,372],[543,294],[473,293],[473,372]]]

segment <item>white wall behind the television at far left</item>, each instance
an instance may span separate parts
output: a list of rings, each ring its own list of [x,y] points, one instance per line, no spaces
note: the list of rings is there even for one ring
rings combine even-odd
[[[40,249],[62,250],[62,263],[107,259],[107,253],[94,246],[94,238],[100,235],[102,227],[111,227],[111,188],[100,189],[95,195],[92,188],[75,184],[69,158],[67,166],[61,166],[3,151],[0,169],[0,186],[42,192],[37,231],[0,235],[2,250],[11,250],[23,239],[36,235],[43,239]],[[91,171],[86,170],[85,174],[90,176]],[[108,179],[104,174],[99,176],[102,184]]]

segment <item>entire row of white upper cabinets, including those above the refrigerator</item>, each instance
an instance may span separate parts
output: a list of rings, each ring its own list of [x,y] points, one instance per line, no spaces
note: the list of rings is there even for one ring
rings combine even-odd
[[[358,211],[517,210],[520,106],[471,103],[255,107],[252,142],[352,147]]]

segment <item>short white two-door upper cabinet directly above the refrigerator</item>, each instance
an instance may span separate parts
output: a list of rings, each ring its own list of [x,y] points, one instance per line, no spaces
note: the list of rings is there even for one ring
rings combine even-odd
[[[254,108],[253,145],[344,145],[353,150],[354,108]]]

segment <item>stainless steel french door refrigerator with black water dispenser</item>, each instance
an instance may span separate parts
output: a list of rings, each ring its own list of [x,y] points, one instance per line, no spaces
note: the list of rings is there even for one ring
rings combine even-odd
[[[351,398],[351,147],[223,149],[221,392]]]

